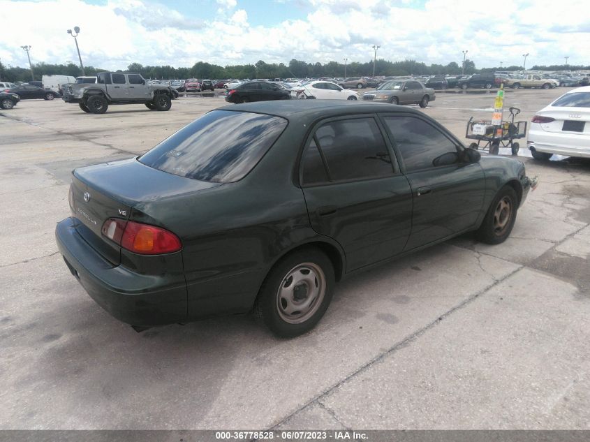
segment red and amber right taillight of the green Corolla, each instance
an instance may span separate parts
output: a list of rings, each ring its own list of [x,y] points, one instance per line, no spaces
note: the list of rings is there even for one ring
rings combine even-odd
[[[142,255],[172,253],[182,249],[179,238],[172,232],[148,224],[111,218],[103,224],[103,235],[121,247]]]

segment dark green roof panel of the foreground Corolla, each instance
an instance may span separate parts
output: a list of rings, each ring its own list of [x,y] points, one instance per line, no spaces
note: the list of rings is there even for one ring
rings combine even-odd
[[[267,115],[276,115],[288,119],[290,116],[304,117],[306,115],[317,115],[318,112],[328,112],[330,115],[350,115],[355,112],[406,112],[423,115],[418,110],[395,106],[389,103],[367,103],[353,100],[280,100],[280,101],[257,101],[255,103],[244,103],[229,105],[219,110],[237,110],[242,112],[257,112]]]

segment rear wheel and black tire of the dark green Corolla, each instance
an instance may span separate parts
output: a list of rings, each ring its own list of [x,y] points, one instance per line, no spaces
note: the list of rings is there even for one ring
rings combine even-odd
[[[293,284],[295,275],[301,278],[300,283]],[[290,253],[267,275],[260,287],[254,314],[279,337],[295,337],[308,332],[330,305],[334,280],[330,259],[318,249]],[[311,296],[314,297],[310,299]],[[297,307],[304,311],[293,311]]]

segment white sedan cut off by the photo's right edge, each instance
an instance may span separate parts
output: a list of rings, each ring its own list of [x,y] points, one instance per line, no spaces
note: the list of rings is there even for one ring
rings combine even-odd
[[[538,160],[553,154],[590,158],[590,86],[572,89],[537,112],[529,149]]]

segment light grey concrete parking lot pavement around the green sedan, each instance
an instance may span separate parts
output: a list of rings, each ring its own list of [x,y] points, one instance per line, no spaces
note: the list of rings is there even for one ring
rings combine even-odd
[[[564,91],[505,105],[530,121]],[[494,94],[437,93],[423,112],[463,139]],[[54,241],[71,169],[145,152],[221,105],[0,112],[0,429],[590,428],[590,162],[539,163],[524,142],[540,186],[507,242],[465,235],[346,279],[297,339],[250,316],[137,333],[98,307]]]

